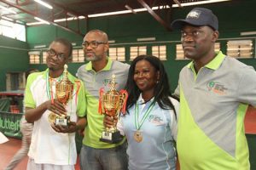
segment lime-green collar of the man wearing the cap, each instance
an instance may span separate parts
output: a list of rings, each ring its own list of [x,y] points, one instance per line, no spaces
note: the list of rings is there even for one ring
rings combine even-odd
[[[225,58],[225,55],[219,51],[218,54],[214,57],[214,59],[212,59],[207,65],[205,65],[204,67],[207,67],[209,69],[212,69],[212,70],[217,70],[219,65],[221,65],[221,63],[223,62]],[[188,65],[187,65],[188,68],[190,68],[191,70],[195,70],[194,69],[194,62],[191,61]]]

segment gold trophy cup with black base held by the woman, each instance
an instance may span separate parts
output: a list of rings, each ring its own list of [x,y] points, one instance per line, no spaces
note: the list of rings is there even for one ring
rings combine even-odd
[[[128,94],[125,90],[117,91],[115,89],[115,75],[112,76],[110,82],[110,90],[104,94],[103,88],[100,90],[99,112],[108,116],[119,116],[119,112],[123,110],[125,114],[125,104]],[[115,144],[121,141],[122,137],[117,127],[105,127],[105,131],[102,132],[102,138],[100,141]]]

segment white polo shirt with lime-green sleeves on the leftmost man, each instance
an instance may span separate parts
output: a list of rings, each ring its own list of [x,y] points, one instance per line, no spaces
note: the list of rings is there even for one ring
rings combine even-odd
[[[36,108],[49,100],[47,91],[48,69],[29,75],[26,82],[25,107]],[[74,83],[73,98],[67,103],[67,115],[72,122],[77,122],[77,117],[85,116],[84,84],[68,73],[68,79]],[[55,79],[60,80],[61,77]],[[55,88],[51,88],[55,95]],[[74,165],[77,159],[75,133],[57,133],[48,121],[50,111],[47,110],[34,122],[32,141],[28,156],[39,164]]]

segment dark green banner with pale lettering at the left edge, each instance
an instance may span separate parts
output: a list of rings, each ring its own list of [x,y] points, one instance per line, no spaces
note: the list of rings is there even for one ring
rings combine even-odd
[[[0,131],[8,137],[21,139],[20,119],[23,113],[0,112]]]

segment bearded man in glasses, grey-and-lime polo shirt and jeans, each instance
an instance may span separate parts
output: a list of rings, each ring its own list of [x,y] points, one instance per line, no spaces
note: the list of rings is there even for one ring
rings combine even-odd
[[[82,65],[77,76],[84,82],[87,99],[87,126],[84,129],[80,152],[81,170],[125,170],[127,157],[125,139],[118,144],[100,141],[104,131],[103,117],[98,113],[99,90],[109,90],[112,75],[116,76],[117,90],[125,88],[129,65],[108,58],[108,35],[100,30],[89,31],[82,43],[89,63]]]

